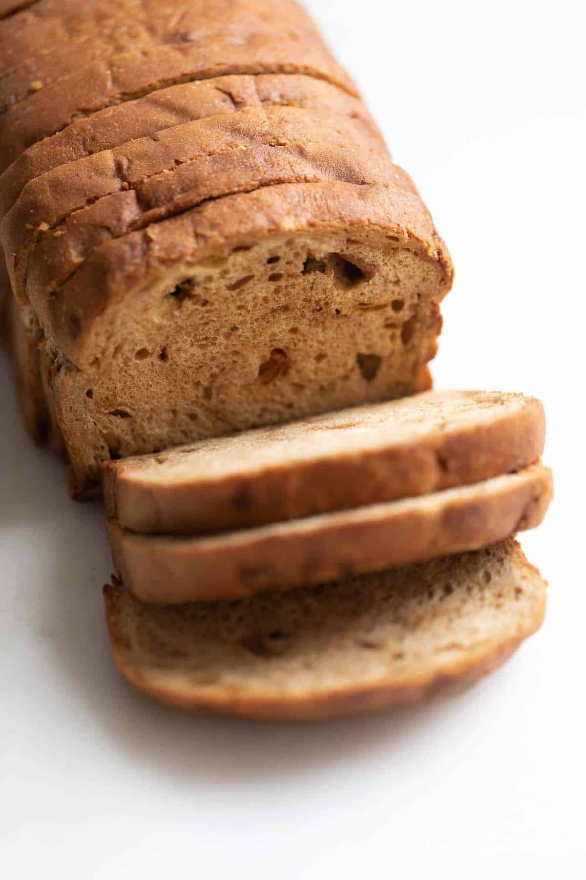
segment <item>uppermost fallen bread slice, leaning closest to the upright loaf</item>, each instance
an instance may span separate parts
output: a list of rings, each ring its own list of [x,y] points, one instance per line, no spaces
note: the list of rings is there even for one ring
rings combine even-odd
[[[544,441],[535,398],[426,392],[107,462],[104,497],[133,532],[238,529],[487,480]]]

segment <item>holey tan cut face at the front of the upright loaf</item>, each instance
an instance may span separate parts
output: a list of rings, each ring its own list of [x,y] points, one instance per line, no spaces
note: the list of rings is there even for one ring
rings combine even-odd
[[[55,377],[78,491],[104,460],[429,387],[442,272],[399,236],[335,231],[173,267]]]

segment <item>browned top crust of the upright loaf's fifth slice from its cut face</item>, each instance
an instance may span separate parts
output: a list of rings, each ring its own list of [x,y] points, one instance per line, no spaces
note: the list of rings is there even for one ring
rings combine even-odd
[[[317,37],[300,40],[294,29],[267,28],[235,42],[233,34],[222,30],[216,40],[201,45],[170,44],[113,55],[34,92],[0,120],[0,170],[32,143],[53,135],[80,115],[175,83],[236,73],[301,73],[356,93]]]

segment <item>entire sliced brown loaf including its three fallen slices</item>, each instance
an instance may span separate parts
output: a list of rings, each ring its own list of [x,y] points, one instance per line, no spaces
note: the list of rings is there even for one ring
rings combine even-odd
[[[450,256],[296,0],[0,0],[0,242],[135,685],[352,713],[539,626],[510,536],[551,495],[542,408],[430,392]]]

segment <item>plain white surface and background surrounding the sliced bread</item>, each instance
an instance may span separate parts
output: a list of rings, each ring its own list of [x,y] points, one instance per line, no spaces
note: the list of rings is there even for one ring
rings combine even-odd
[[[586,875],[584,52],[570,2],[314,0],[452,250],[436,384],[546,404],[546,624],[429,707],[323,725],[175,715],[112,668],[99,505],[32,448],[0,358],[4,876]]]

